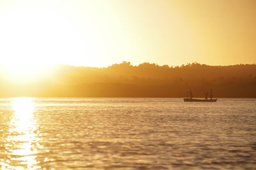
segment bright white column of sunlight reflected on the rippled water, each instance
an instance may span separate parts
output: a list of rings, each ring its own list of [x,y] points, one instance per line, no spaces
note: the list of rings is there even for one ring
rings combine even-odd
[[[31,97],[13,98],[11,102],[13,111],[10,122],[9,134],[6,139],[6,153],[10,158],[4,164],[0,164],[2,169],[39,169],[36,166],[38,153],[38,130],[35,113],[35,101]]]

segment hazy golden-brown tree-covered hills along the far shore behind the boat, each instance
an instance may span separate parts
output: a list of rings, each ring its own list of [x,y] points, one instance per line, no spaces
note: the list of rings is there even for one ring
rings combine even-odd
[[[204,97],[213,89],[214,97],[256,97],[256,65],[182,66],[130,62],[109,67],[54,66],[51,74],[33,83],[4,80],[1,97]]]

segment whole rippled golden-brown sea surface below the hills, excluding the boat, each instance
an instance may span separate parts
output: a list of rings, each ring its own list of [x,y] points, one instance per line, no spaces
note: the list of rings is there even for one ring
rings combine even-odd
[[[2,169],[256,169],[256,99],[2,98]]]

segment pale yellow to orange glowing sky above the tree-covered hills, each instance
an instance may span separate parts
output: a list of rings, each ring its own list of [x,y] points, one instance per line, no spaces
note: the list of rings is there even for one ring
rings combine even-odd
[[[256,63],[254,0],[1,0],[0,63]]]

